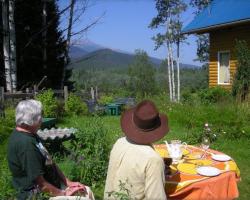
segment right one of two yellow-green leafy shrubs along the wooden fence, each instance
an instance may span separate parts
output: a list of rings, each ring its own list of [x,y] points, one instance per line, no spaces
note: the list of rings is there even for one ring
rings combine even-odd
[[[64,109],[67,115],[81,115],[88,113],[86,103],[83,103],[81,98],[71,93],[65,102]]]

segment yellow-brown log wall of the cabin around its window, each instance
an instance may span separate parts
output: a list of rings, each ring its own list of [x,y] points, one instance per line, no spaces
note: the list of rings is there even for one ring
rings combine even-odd
[[[216,30],[210,33],[209,87],[218,85],[218,52],[230,51],[230,85],[221,86],[231,89],[237,69],[236,40],[245,40],[250,46],[250,25]]]

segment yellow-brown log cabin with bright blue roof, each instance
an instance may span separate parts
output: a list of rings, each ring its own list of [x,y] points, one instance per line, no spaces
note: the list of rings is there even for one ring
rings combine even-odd
[[[209,34],[209,87],[231,89],[236,40],[245,40],[250,47],[250,0],[213,0],[182,33]]]

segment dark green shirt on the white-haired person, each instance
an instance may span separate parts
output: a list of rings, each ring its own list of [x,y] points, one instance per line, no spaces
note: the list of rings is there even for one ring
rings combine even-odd
[[[28,190],[35,186],[35,179],[45,173],[45,157],[37,145],[35,134],[14,130],[9,138],[8,164],[13,176],[13,186],[18,199],[26,199]]]

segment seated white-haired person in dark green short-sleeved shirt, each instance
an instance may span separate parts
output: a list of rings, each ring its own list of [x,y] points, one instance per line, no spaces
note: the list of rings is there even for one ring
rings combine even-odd
[[[60,196],[57,199],[71,196],[75,192],[89,191],[87,186],[67,179],[53,163],[36,134],[41,123],[41,102],[36,100],[19,102],[16,107],[16,128],[9,138],[7,154],[13,186],[18,193],[17,199],[33,199],[39,191],[51,196]],[[54,169],[57,177],[54,180],[47,180],[48,177],[52,177],[49,174],[51,169]]]

